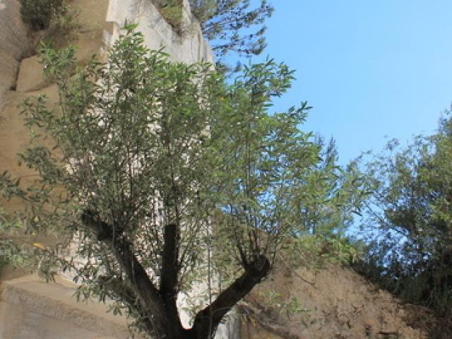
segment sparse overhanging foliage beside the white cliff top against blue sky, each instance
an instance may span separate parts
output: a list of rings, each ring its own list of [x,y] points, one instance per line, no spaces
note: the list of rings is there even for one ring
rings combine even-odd
[[[189,0],[191,11],[218,57],[230,51],[260,54],[266,47],[263,22],[273,13],[273,6],[267,0],[259,0],[256,8],[250,8],[250,3],[249,0]],[[260,27],[255,29],[256,25]]]

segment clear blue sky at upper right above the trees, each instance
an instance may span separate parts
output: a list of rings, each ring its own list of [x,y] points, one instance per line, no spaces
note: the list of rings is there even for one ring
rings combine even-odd
[[[388,138],[434,132],[452,101],[452,1],[272,4],[261,57],[285,61],[297,78],[275,108],[307,100],[304,129],[333,136],[340,163]]]

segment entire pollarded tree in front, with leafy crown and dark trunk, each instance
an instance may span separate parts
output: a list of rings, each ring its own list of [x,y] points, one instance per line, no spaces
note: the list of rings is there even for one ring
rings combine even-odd
[[[60,100],[25,103],[32,144],[20,158],[39,175],[26,189],[0,177],[4,195],[28,204],[1,222],[3,254],[49,279],[70,270],[78,297],[112,299],[141,333],[210,338],[299,234],[314,194],[305,183],[319,146],[298,128],[307,105],[268,114],[292,71],[269,60],[225,85],[207,64],[148,51],[133,26],[105,64],[77,69],[71,48],[43,58]],[[199,280],[208,300],[184,328],[177,297]]]

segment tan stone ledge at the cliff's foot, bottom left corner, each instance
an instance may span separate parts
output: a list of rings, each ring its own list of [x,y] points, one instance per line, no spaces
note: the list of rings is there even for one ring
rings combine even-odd
[[[125,319],[95,302],[78,303],[76,286],[34,275],[0,285],[1,339],[125,339]],[[138,339],[138,338],[137,338]]]

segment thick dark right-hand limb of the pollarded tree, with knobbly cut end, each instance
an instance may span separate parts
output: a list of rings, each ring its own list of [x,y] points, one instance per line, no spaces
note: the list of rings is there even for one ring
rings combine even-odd
[[[221,319],[230,309],[247,295],[252,288],[261,283],[270,271],[270,261],[266,256],[258,256],[249,263],[245,272],[218,295],[212,304],[196,314],[194,331],[196,338],[210,338],[215,333]]]

